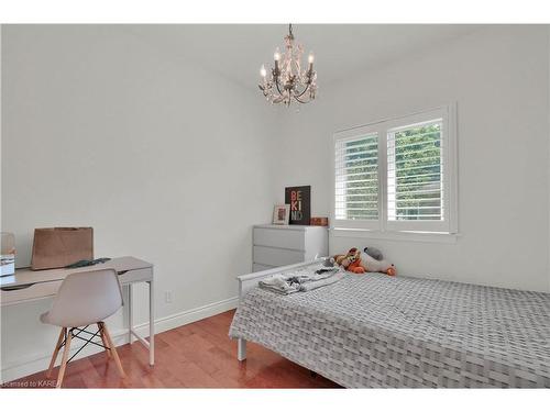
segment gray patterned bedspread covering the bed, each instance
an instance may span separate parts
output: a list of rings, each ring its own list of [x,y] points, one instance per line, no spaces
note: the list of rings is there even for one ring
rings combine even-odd
[[[550,387],[550,294],[346,275],[290,296],[255,288],[231,337],[349,388]]]

